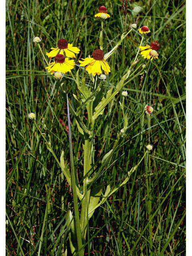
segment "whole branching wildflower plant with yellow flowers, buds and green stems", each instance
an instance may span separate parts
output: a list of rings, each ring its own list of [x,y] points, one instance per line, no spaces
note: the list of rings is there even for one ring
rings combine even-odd
[[[126,3],[126,1],[125,1]],[[125,6],[126,7],[126,6]],[[137,54],[132,60],[131,66],[128,68],[128,71],[119,79],[119,82],[112,86],[106,94],[102,95],[103,86],[105,83],[106,77],[110,76],[113,72],[112,68],[110,68],[110,62],[107,60],[109,57],[114,54],[116,50],[118,50],[118,46],[122,43],[124,38],[136,28],[136,24],[130,25],[130,31],[122,34],[119,42],[109,50],[108,52],[104,52],[104,42],[103,42],[103,31],[104,31],[104,22],[110,18],[110,15],[107,13],[107,9],[105,6],[101,6],[98,9],[98,14],[95,15],[96,18],[101,19],[101,32],[99,38],[98,48],[95,49],[92,53],[92,57],[81,58],[79,60],[80,68],[77,70],[74,75],[74,66],[77,62],[74,61],[76,58],[75,54],[80,52],[76,46],[72,46],[65,39],[60,39],[57,43],[56,48],[51,48],[50,52],[46,53],[48,58],[51,58],[50,64],[46,60],[48,64],[45,68],[48,70],[48,74],[50,73],[53,79],[56,80],[56,83],[59,88],[59,92],[62,95],[64,101],[67,104],[68,110],[68,136],[69,136],[69,145],[70,145],[70,166],[69,159],[64,159],[64,151],[60,156],[60,160],[56,157],[55,152],[52,150],[51,146],[51,137],[49,135],[49,140],[46,140],[44,134],[42,134],[46,146],[50,152],[52,152],[53,156],[56,158],[69,186],[72,188],[73,192],[73,206],[74,212],[68,210],[66,214],[66,222],[67,228],[69,232],[69,241],[70,241],[70,249],[72,255],[84,255],[84,248],[86,246],[86,234],[88,228],[88,221],[93,216],[96,208],[104,204],[106,200],[121,186],[126,184],[132,175],[132,173],[136,170],[138,165],[142,162],[144,156],[148,151],[142,156],[141,160],[131,168],[126,174],[126,178],[124,181],[119,180],[114,187],[111,187],[110,184],[105,186],[105,183],[100,183],[98,186],[94,187],[94,182],[102,177],[102,173],[108,167],[110,160],[115,156],[115,153],[118,151],[121,143],[124,138],[127,136],[131,126],[138,122],[140,118],[145,114],[150,116],[153,112],[153,108],[148,106],[143,106],[142,113],[138,118],[135,119],[133,123],[129,124],[128,114],[124,114],[124,106],[126,104],[126,100],[128,98],[128,92],[122,92],[122,89],[125,84],[131,82],[136,76],[139,76],[146,66],[150,63],[151,60],[158,59],[158,49],[160,47],[157,41],[152,42],[150,45],[142,46],[142,42],[144,40],[144,35],[150,33],[150,29],[147,26],[142,26],[139,28],[138,32],[142,35],[140,46],[138,47]],[[105,24],[106,25],[106,24]],[[34,42],[38,44],[40,48],[40,38],[35,37]],[[41,49],[41,48],[40,48]],[[141,56],[138,54],[141,52]],[[42,51],[41,51],[42,53]],[[42,53],[43,54],[43,53]],[[84,52],[82,49],[82,56],[84,56]],[[138,58],[148,59],[148,62],[143,65],[138,64]],[[45,56],[43,55],[43,58]],[[54,60],[52,59],[54,58]],[[85,69],[83,68],[85,67]],[[64,74],[70,74],[76,88],[74,90],[78,90],[80,92],[80,97],[78,94],[73,94],[74,99],[78,105],[77,109],[72,107],[70,104],[70,97],[67,93],[67,85],[64,83]],[[82,75],[89,76],[89,86],[86,84],[86,76],[80,79]],[[66,79],[66,78],[65,78]],[[120,102],[120,109],[122,110],[122,115],[124,119],[123,127],[118,131],[116,131],[116,138],[113,147],[106,152],[102,158],[100,164],[95,166],[94,170],[92,169],[92,152],[94,150],[93,145],[93,132],[95,123],[98,120],[99,116],[104,115],[104,110],[108,103],[113,100],[117,94],[122,92],[122,102]],[[81,118],[83,109],[86,109],[88,116],[88,125]],[[80,191],[79,186],[76,184],[76,177],[74,172],[74,164],[73,164],[73,150],[72,150],[72,133],[70,127],[70,113],[74,116],[76,120],[76,125],[78,127],[78,131],[82,138],[82,148],[83,148],[83,180],[82,180],[82,191]],[[33,119],[35,117],[34,114],[30,113],[29,118]],[[40,131],[38,125],[36,124],[36,120],[33,120],[36,128]],[[150,150],[151,146],[147,146],[147,149]],[[106,188],[105,192],[104,188]],[[102,194],[103,193],[103,194]],[[103,195],[103,196],[102,196]]]

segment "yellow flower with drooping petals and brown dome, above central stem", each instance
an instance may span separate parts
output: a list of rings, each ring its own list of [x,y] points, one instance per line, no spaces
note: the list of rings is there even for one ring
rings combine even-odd
[[[94,50],[93,58],[85,58],[82,60],[83,61],[79,60],[79,62],[81,63],[80,66],[83,67],[89,64],[88,66],[86,66],[86,70],[89,74],[92,74],[93,76],[95,76],[96,74],[102,74],[101,68],[102,70],[104,70],[104,73],[106,75],[111,72],[110,66],[104,59],[104,52],[100,49]]]

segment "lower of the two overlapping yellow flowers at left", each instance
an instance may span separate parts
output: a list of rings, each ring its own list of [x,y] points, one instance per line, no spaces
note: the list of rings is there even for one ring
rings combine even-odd
[[[74,60],[69,60],[69,58],[65,58],[63,54],[57,54],[55,56],[55,61],[46,68],[48,68],[48,72],[51,72],[51,74],[53,74],[54,72],[61,72],[65,74],[66,72],[71,72],[71,70],[74,68],[74,65]]]

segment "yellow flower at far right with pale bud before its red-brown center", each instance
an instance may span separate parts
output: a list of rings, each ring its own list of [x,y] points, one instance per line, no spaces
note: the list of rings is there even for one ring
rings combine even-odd
[[[150,45],[146,44],[146,46],[139,46],[140,51],[141,52],[141,56],[143,56],[144,58],[148,58],[151,60],[154,59],[158,59],[158,50],[160,48],[160,44],[158,43],[158,41],[153,41],[150,43]]]

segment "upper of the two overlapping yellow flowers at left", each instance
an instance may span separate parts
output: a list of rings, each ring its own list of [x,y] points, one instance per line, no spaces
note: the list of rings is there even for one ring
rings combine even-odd
[[[74,53],[79,53],[80,50],[77,47],[73,47],[73,44],[68,44],[67,40],[60,39],[57,43],[57,48],[51,48],[52,51],[46,52],[48,58],[55,57],[58,52],[64,55],[64,52],[68,58],[76,58]]]

